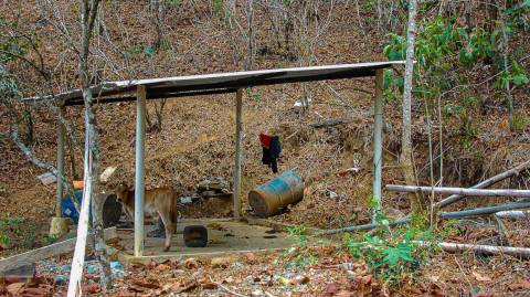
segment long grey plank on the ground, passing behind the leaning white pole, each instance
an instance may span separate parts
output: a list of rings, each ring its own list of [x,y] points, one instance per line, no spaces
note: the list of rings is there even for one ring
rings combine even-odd
[[[115,226],[105,229],[103,234],[105,240],[115,238],[118,236],[118,234],[116,233]],[[6,272],[19,266],[29,265],[36,261],[41,261],[41,259],[50,258],[63,253],[72,252],[74,251],[76,240],[77,238],[66,240],[66,241],[54,243],[38,250],[18,254],[8,258],[2,258],[0,259],[0,272]],[[86,245],[87,246],[94,245],[93,233],[88,234],[86,238]]]

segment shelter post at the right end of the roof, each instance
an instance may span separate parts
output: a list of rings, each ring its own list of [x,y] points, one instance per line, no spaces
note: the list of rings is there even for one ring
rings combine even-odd
[[[378,210],[381,209],[381,166],[382,157],[382,129],[383,129],[383,70],[375,74],[375,112],[373,130],[373,199],[378,201]],[[375,212],[372,218],[375,222]]]

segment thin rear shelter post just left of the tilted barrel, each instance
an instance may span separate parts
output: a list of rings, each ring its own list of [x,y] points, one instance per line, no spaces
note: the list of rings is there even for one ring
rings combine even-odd
[[[241,142],[243,130],[243,88],[235,96],[235,171],[234,171],[234,219],[240,221],[241,212]]]

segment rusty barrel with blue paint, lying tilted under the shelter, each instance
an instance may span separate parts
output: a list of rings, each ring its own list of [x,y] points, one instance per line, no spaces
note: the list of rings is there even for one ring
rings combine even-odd
[[[248,193],[248,202],[257,216],[268,218],[304,197],[304,182],[286,171]]]

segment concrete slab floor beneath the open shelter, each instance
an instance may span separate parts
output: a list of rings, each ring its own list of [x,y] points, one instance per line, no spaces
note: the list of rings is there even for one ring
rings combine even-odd
[[[208,229],[209,244],[205,247],[188,247],[183,241],[183,230],[188,225],[208,226],[211,223],[219,223],[221,231]],[[146,225],[146,234],[155,229],[153,225]],[[180,219],[177,234],[173,234],[171,248],[169,252],[162,252],[165,238],[145,237],[144,255],[156,257],[171,257],[182,254],[219,254],[242,251],[263,251],[263,250],[286,250],[297,243],[297,238],[290,233],[283,231],[279,233],[267,234],[271,227],[250,225],[246,222],[234,222],[232,219]],[[230,236],[234,235],[234,236]],[[134,233],[118,234],[119,244],[124,245],[127,253],[134,253]],[[275,237],[273,237],[275,236]],[[319,238],[310,237],[310,243],[315,244]]]

